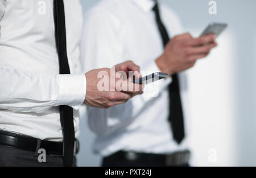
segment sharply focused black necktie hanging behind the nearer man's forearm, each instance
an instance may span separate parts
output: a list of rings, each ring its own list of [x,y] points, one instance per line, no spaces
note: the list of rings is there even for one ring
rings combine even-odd
[[[57,53],[59,56],[60,74],[70,74],[67,56],[65,12],[63,0],[54,0],[53,9],[55,22],[55,40]],[[60,106],[60,122],[63,129],[65,166],[72,166],[75,142],[72,107]]]

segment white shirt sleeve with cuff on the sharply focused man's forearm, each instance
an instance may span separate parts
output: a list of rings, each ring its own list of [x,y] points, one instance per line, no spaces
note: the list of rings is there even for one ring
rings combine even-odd
[[[85,100],[85,74],[47,76],[0,67],[0,109],[42,113],[53,106],[74,109]]]

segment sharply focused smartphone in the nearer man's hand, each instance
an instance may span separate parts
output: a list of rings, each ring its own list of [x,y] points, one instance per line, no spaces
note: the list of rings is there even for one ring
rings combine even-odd
[[[133,80],[133,83],[134,84],[149,84],[151,82],[155,82],[155,81],[158,81],[158,80],[161,80],[163,78],[166,78],[168,77],[168,74],[167,73],[162,73],[162,72],[155,72],[155,73],[152,73],[148,76],[144,76],[142,78],[136,78]]]

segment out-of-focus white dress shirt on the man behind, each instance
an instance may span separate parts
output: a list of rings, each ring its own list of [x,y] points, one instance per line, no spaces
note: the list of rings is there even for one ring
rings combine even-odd
[[[155,59],[163,53],[163,42],[152,11],[154,5],[151,0],[104,0],[93,7],[85,15],[81,45],[84,70],[133,60],[142,72],[159,72]],[[177,15],[164,5],[160,11],[169,34],[181,34]],[[157,97],[146,91],[110,109],[88,107],[89,126],[97,135],[94,151],[108,156],[119,150],[164,154],[187,148],[186,140],[179,145],[172,138],[168,121],[171,81],[169,77],[158,82]],[[181,74],[180,82],[185,101],[185,74]],[[186,104],[183,102],[184,110]]]

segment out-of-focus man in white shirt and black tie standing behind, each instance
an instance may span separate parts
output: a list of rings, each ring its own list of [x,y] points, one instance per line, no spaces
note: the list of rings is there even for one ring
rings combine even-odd
[[[86,14],[81,48],[85,71],[133,59],[142,73],[170,76],[158,82],[157,97],[151,97],[148,90],[107,110],[88,107],[89,126],[97,136],[94,151],[104,157],[102,165],[188,164],[183,115],[184,119],[189,115],[183,71],[217,44],[215,35],[192,38],[182,32],[174,11],[153,0],[103,0]]]

